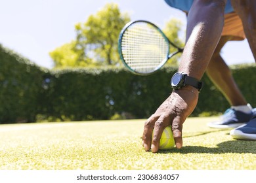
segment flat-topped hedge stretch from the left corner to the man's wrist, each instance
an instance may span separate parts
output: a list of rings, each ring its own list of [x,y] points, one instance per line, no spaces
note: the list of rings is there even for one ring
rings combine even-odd
[[[66,69],[52,73],[47,115],[61,120],[106,120],[116,113],[146,118],[170,93],[165,72],[137,76],[125,69]],[[154,96],[154,97],[152,97]]]

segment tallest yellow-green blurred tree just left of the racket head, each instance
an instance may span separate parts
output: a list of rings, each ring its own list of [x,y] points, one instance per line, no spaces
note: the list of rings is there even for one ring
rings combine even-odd
[[[116,65],[119,62],[117,38],[129,21],[129,16],[121,14],[116,4],[107,4],[84,24],[75,25],[77,51],[89,54],[101,65]]]

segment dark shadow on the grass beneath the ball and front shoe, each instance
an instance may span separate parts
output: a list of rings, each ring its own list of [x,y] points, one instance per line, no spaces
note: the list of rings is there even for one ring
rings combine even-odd
[[[161,150],[158,153],[202,153],[202,154],[224,154],[224,153],[251,153],[256,154],[256,141],[226,141],[217,144],[216,148],[203,146],[184,146],[181,149]]]

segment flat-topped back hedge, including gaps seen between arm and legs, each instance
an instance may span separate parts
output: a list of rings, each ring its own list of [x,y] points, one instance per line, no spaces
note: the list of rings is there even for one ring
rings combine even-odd
[[[114,114],[148,118],[171,93],[175,68],[165,67],[150,76],[133,75],[126,69],[66,69],[52,73],[51,114],[61,120],[106,120]],[[232,69],[242,93],[256,106],[255,66]],[[246,78],[247,75],[251,77]],[[203,90],[192,116],[218,114],[230,107],[224,96],[203,76]],[[45,100],[45,101],[49,101]]]

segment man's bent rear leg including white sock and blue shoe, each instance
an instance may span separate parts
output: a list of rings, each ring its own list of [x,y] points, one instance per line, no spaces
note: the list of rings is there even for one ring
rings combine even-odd
[[[223,48],[224,44],[230,40],[232,40],[232,36],[221,37],[206,72],[215,86],[221,90],[230,105],[233,107],[232,109],[226,110],[224,115],[221,116],[221,120],[217,122],[210,122],[208,124],[209,127],[238,127],[245,124],[245,122],[248,122],[252,116],[251,108],[247,106],[247,102],[245,101],[244,96],[240,92],[238,86],[236,86],[236,82],[232,77],[230,69],[220,55],[221,48]],[[234,108],[234,106],[236,106],[236,108]]]

